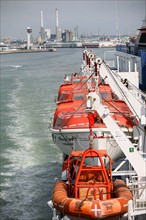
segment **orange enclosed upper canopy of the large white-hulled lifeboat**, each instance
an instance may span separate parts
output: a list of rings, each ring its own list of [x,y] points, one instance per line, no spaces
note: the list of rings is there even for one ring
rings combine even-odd
[[[71,83],[60,86],[53,120],[54,129],[87,129],[89,127],[85,112],[86,95],[88,94],[85,80],[87,81],[87,78],[84,76],[72,77]],[[112,117],[119,126],[131,129],[134,126],[132,112],[125,102],[116,99],[108,84],[100,84],[97,92],[101,95],[102,103],[110,109]],[[105,127],[100,117],[94,121],[93,128]]]

